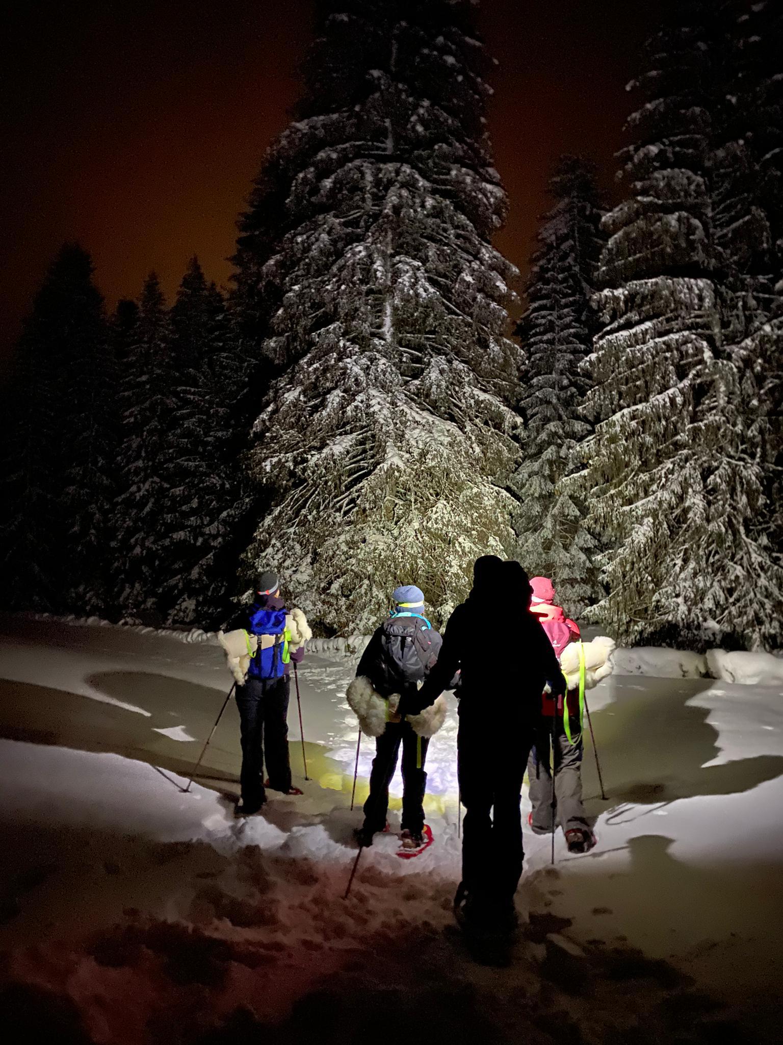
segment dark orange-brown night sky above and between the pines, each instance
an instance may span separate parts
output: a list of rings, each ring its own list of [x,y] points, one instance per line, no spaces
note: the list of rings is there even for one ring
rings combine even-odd
[[[311,0],[8,4],[2,62],[3,353],[65,239],[90,250],[110,306],[150,269],[172,295],[188,258],[226,283],[234,220],[299,94]],[[547,170],[583,152],[612,185],[624,84],[661,0],[483,0],[500,60],[490,112],[511,196],[497,246],[524,269]]]

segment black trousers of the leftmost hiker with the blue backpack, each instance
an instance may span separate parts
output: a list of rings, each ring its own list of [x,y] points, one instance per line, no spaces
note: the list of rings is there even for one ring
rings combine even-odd
[[[290,679],[248,678],[237,687],[242,735],[242,804],[258,806],[264,798],[264,761],[269,786],[289,791],[288,695]]]

